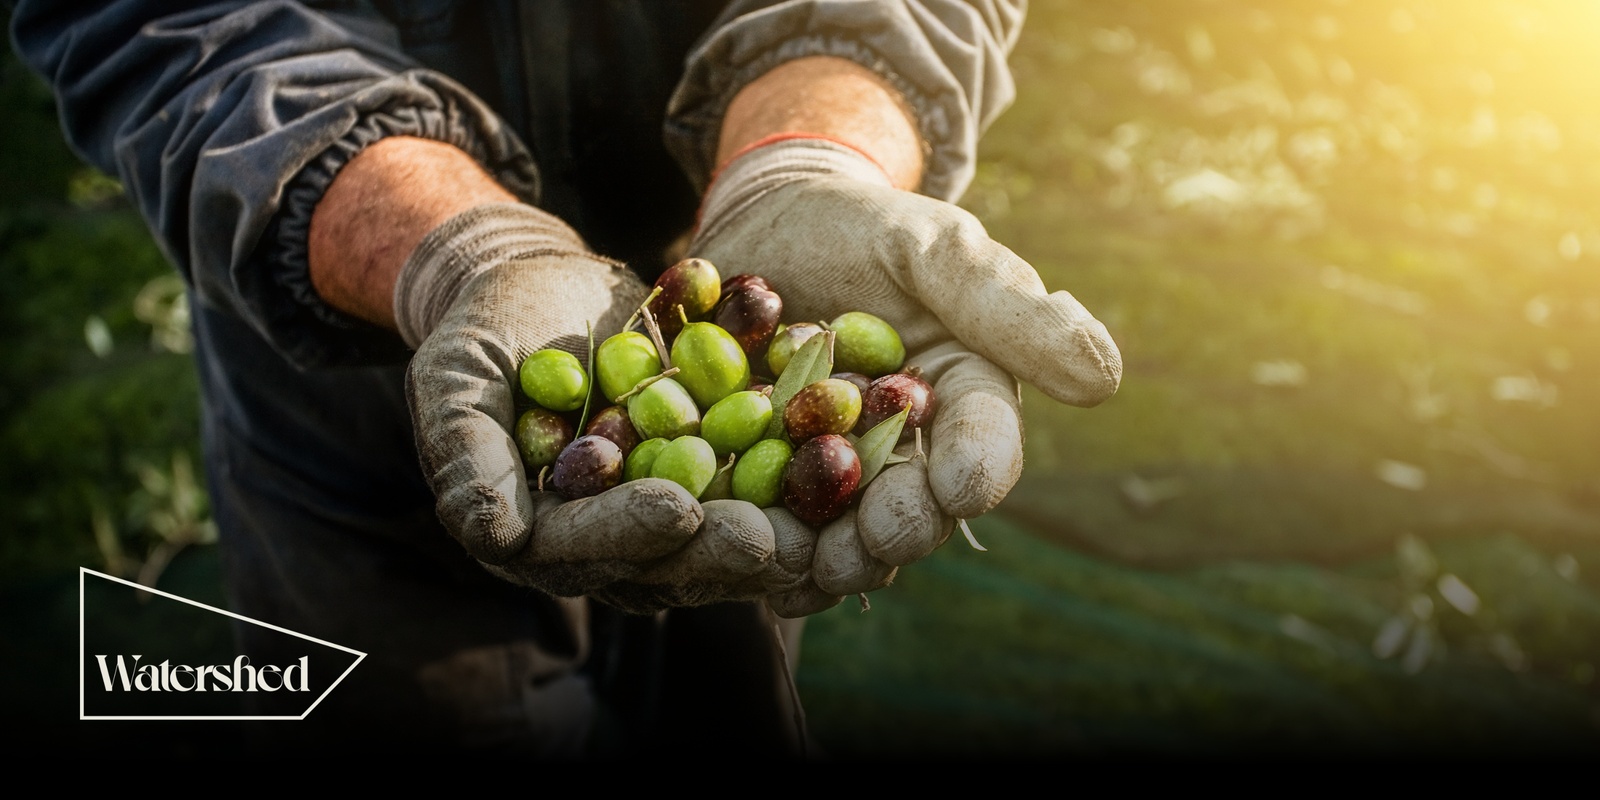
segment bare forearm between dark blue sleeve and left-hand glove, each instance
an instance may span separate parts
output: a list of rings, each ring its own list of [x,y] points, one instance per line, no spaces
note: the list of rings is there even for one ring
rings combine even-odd
[[[339,170],[312,213],[312,286],[334,309],[392,330],[395,280],[418,242],[461,211],[514,202],[454,146],[381,139]]]

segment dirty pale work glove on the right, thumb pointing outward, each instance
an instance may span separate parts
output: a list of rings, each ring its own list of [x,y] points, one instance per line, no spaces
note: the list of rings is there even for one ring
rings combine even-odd
[[[690,254],[723,275],[763,275],[790,323],[882,317],[906,344],[906,366],[934,389],[925,458],[885,469],[856,510],[819,533],[813,579],[824,595],[885,586],[955,520],[1005,498],[1022,472],[1013,376],[1075,406],[1106,400],[1122,379],[1110,334],[1072,294],[1048,293],[973,214],[894,189],[872,160],[827,139],[782,138],[728,163]]]

